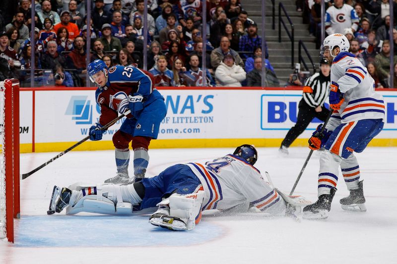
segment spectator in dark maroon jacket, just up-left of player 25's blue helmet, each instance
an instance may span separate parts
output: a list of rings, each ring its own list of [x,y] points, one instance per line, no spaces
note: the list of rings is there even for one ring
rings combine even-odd
[[[81,36],[77,36],[73,41],[73,50],[66,56],[66,65],[68,69],[76,69],[79,77],[85,81],[87,73],[87,65],[85,63],[87,53],[83,49],[84,40]]]

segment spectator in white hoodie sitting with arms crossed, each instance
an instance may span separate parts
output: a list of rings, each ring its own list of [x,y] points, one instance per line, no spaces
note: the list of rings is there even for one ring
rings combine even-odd
[[[243,67],[234,63],[234,57],[228,53],[215,70],[215,78],[219,86],[241,87],[241,82],[246,78]]]

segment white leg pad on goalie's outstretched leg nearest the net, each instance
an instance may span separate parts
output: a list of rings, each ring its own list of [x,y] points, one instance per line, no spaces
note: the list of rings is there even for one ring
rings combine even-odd
[[[73,184],[72,192],[82,188],[96,187],[96,195],[86,195],[66,208],[66,214],[78,212],[94,212],[102,214],[132,214],[132,204],[123,202],[120,186],[114,184]],[[105,194],[105,196],[103,196]],[[73,193],[72,193],[73,196]],[[120,201],[120,202],[119,202]]]

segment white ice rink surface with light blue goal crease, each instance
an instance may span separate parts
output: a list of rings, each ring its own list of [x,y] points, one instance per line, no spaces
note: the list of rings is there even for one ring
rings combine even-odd
[[[189,161],[204,162],[234,149],[150,150],[146,176]],[[258,148],[256,167],[289,193],[309,153]],[[21,155],[26,173],[58,153]],[[114,151],[70,152],[21,182],[21,218],[15,244],[0,243],[0,263],[205,263],[205,264],[396,264],[397,148],[368,148],[357,154],[367,212],[343,211],[348,195],[339,174],[338,191],[326,221],[268,217],[263,213],[203,215],[192,231],[150,225],[147,215],[47,215],[54,185],[98,183],[115,175]],[[317,200],[319,154],[315,153],[294,194]],[[132,162],[130,172],[132,171]]]

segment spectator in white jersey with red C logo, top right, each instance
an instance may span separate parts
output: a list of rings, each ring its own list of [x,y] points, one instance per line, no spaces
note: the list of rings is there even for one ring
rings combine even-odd
[[[360,19],[355,9],[343,0],[334,0],[326,11],[325,27],[328,35],[342,33],[345,28],[357,31]]]

